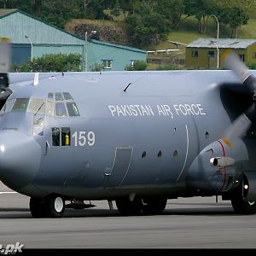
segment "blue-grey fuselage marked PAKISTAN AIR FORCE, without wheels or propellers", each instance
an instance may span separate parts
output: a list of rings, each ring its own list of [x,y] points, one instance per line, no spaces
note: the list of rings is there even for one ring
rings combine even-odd
[[[231,123],[224,83],[237,80],[227,71],[67,73],[22,84],[8,99],[18,107],[1,117],[0,149],[5,137],[15,137],[12,148],[22,140],[0,152],[0,179],[30,196],[177,195],[195,158]],[[26,144],[27,170],[17,158]]]

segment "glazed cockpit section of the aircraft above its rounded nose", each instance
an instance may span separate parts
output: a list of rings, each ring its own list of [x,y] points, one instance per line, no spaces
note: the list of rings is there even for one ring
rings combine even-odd
[[[9,113],[14,113],[14,115],[11,117]],[[32,114],[25,117],[20,116],[19,113]],[[42,136],[45,118],[76,117],[79,116],[79,108],[68,92],[50,92],[47,99],[34,96],[9,98],[0,114],[3,116],[1,129],[20,130],[33,136]]]

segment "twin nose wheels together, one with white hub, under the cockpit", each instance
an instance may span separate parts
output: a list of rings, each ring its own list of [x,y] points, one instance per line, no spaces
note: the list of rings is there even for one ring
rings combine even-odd
[[[65,211],[65,201],[60,195],[31,197],[29,207],[33,218],[61,218]]]

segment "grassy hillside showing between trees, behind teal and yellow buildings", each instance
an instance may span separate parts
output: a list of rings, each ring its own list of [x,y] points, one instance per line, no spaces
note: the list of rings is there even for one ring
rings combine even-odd
[[[113,44],[122,44],[128,46],[134,46],[129,40],[129,35],[125,32],[125,24],[122,20],[72,20],[68,22],[65,29],[68,32],[78,34],[84,38],[85,31],[97,31],[96,39],[110,42]],[[197,20],[193,17],[189,17],[183,20],[182,24],[177,30],[172,30],[169,33],[166,41],[160,44],[151,44],[148,47],[141,47],[145,50],[151,51],[148,54],[148,69],[158,68],[177,68],[183,67],[185,58],[185,44],[189,44],[197,38],[215,38],[217,34],[217,26],[215,20],[209,19],[208,29],[206,34],[200,34],[198,32]],[[256,19],[249,20],[248,24],[241,26],[238,29],[237,38],[256,38]],[[226,28],[219,32],[219,38],[230,38],[231,31]],[[90,38],[90,36],[89,36]],[[173,44],[173,42],[179,42],[183,44]],[[155,50],[164,49],[179,49],[177,52],[154,52]],[[169,66],[169,67],[168,67]]]

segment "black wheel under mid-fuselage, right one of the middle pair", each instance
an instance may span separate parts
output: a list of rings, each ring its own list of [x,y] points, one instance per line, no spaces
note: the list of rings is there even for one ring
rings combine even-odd
[[[166,209],[166,199],[145,199],[143,200],[143,212],[146,214],[160,214]]]

